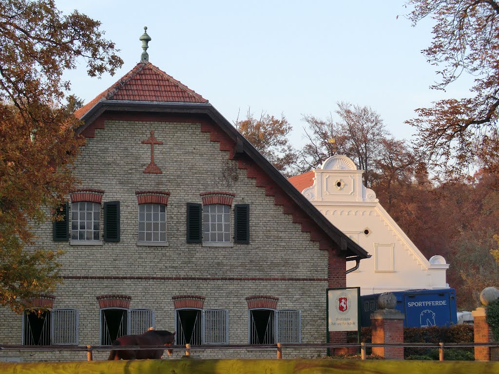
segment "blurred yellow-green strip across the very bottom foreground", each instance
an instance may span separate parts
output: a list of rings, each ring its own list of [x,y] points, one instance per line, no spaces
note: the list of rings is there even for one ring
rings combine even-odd
[[[1,374],[471,374],[499,373],[499,362],[354,360],[133,360],[1,363]]]

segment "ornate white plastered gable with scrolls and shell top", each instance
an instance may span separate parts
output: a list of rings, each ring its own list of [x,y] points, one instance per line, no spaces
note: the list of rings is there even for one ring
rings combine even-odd
[[[313,171],[314,183],[302,194],[329,221],[371,254],[347,275],[347,286],[361,294],[406,289],[446,288],[449,264],[428,260],[362,183],[362,173],[346,156],[332,156]],[[352,267],[347,263],[347,267]]]

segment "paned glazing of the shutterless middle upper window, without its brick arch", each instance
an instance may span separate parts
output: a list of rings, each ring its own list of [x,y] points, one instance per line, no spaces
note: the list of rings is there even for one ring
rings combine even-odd
[[[139,205],[139,244],[167,244],[166,205]]]

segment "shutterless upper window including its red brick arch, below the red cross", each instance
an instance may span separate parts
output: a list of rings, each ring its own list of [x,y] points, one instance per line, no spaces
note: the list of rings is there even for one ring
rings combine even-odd
[[[135,191],[139,204],[138,245],[168,245],[168,191]]]

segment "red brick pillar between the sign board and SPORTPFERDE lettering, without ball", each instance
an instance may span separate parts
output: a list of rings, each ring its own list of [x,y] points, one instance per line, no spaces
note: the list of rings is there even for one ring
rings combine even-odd
[[[404,315],[395,309],[379,309],[371,314],[373,343],[404,343]],[[404,347],[373,347],[373,355],[404,360]]]

